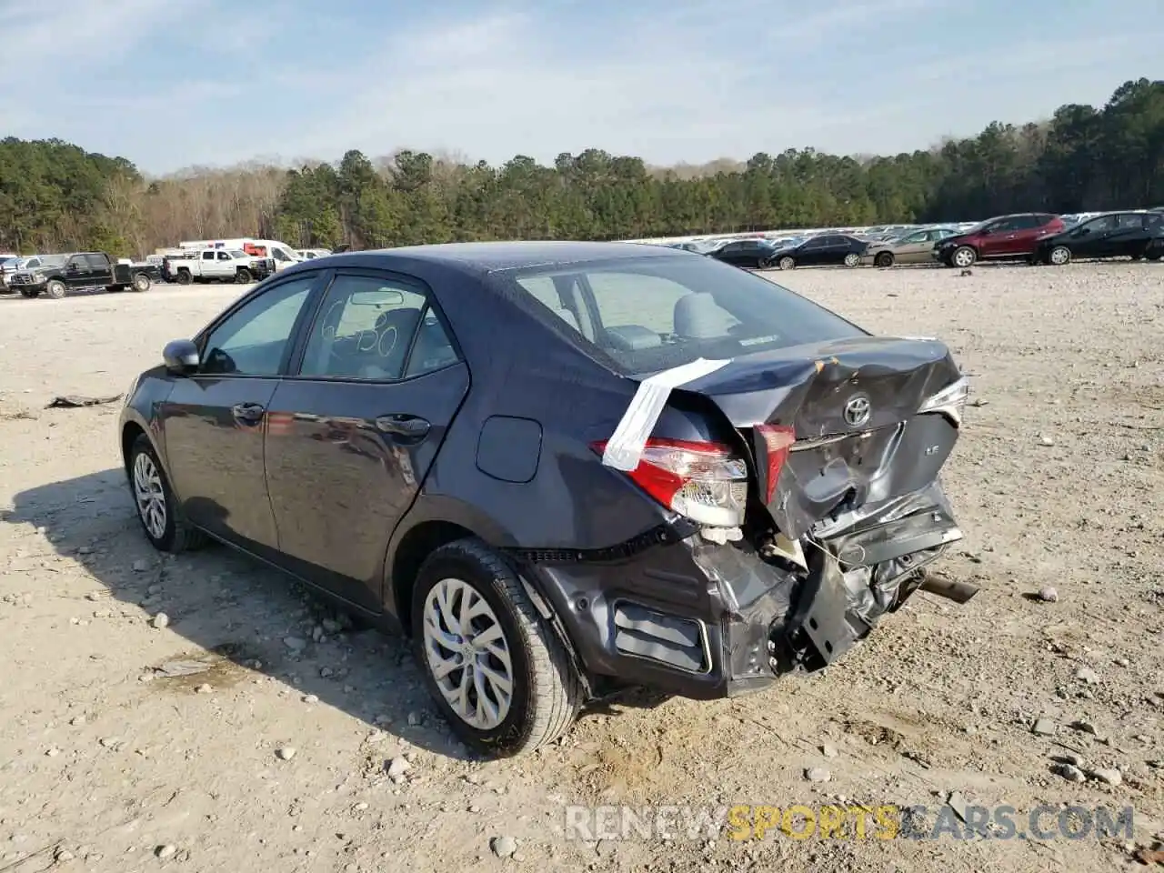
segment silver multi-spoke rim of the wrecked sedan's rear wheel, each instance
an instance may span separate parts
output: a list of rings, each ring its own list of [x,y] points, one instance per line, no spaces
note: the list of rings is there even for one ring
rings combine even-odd
[[[424,605],[425,660],[445,701],[477,730],[492,730],[513,703],[513,662],[497,615],[459,579],[443,579]]]

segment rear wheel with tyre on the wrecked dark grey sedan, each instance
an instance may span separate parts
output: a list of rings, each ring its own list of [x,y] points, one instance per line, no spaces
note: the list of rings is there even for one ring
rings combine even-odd
[[[411,624],[436,707],[469,746],[494,758],[562,736],[582,704],[569,654],[521,580],[477,539],[450,542],[420,568]]]

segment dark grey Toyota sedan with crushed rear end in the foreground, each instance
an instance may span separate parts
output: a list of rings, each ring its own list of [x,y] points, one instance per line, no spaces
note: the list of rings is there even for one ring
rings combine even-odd
[[[662,246],[317,258],[162,360],[118,433],[150,544],[210,535],[403,629],[491,757],[627,687],[836,670],[963,538],[946,346]]]

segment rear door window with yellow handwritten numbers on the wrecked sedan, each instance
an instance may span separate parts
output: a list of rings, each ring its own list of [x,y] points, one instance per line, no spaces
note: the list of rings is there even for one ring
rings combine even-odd
[[[299,375],[390,382],[455,360],[423,289],[386,276],[341,274],[311,327]]]

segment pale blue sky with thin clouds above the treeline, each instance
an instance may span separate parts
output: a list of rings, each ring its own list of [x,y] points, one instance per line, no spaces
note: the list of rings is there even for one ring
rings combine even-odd
[[[1159,0],[0,0],[0,135],[150,173],[896,152],[1164,78]]]

